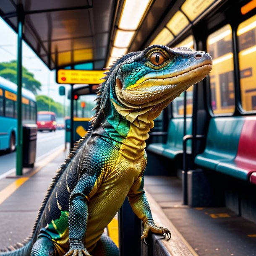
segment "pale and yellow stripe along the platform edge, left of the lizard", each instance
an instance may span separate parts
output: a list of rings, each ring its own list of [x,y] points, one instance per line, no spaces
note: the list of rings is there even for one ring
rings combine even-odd
[[[60,147],[59,147],[60,148]],[[21,185],[23,185],[29,178],[31,178],[34,174],[39,172],[44,166],[46,166],[49,162],[51,162],[57,155],[59,155],[61,152],[63,152],[63,146],[59,150],[55,149],[55,153],[50,154],[46,159],[43,159],[41,162],[39,162],[39,167],[37,167],[36,170],[29,173],[27,177],[21,177],[15,180],[13,183],[8,185],[6,188],[2,189],[0,191],[0,204],[2,204],[6,199],[8,199],[9,196],[11,196]]]

